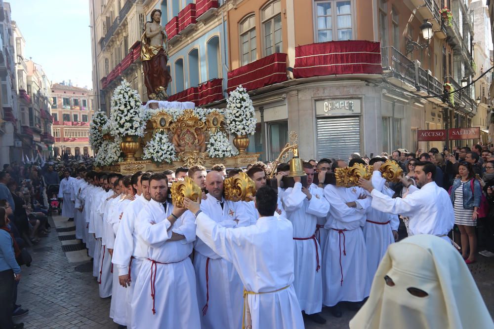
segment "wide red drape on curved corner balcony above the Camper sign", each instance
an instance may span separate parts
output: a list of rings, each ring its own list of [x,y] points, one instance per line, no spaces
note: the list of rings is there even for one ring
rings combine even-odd
[[[333,74],[382,74],[380,43],[349,40],[295,47],[295,78]]]

